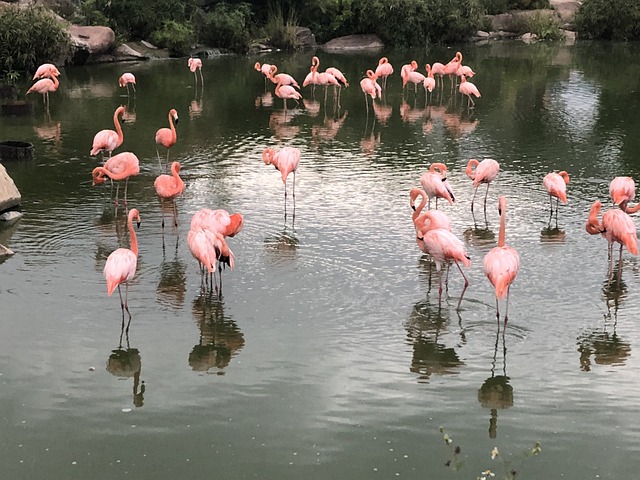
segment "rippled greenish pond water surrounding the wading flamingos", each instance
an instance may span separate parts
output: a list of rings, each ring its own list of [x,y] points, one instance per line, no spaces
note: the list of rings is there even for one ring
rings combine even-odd
[[[429,109],[421,91],[402,101],[400,66],[455,52],[441,48],[384,52],[396,74],[375,121],[358,83],[380,54],[322,52],[321,69],[351,82],[340,108],[322,89],[309,102],[306,88],[307,108],[290,102],[285,118],[273,86],[265,93],[255,61],[301,82],[306,52],[206,59],[203,89],[184,59],[67,68],[48,114],[34,98],[32,117],[0,117],[2,139],[35,145],[33,161],[5,164],[24,217],[0,230],[16,252],[0,265],[1,476],[633,478],[640,265],[625,252],[621,281],[609,282],[606,242],[584,224],[595,199],[609,204],[614,176],[640,175],[638,53],[459,49],[478,73],[474,110],[446,90]],[[135,99],[118,90],[124,71],[138,79]],[[128,246],[125,214],[91,185],[99,160],[88,155],[121,103],[119,151],[141,161],[128,192],[142,217],[128,334],[102,277],[109,253]],[[187,188],[178,227],[163,233],[153,137],[171,108],[170,158]],[[283,145],[302,151],[286,219],[280,176],[261,159]],[[485,157],[502,167],[486,221],[481,201],[471,215],[464,174]],[[432,162],[449,168],[457,202],[442,208],[472,261],[459,311],[459,272],[439,304],[411,223],[409,190]],[[552,170],[571,175],[558,228],[542,189]],[[521,256],[506,329],[481,267],[498,195]],[[203,207],[245,216],[220,299],[201,293],[186,245]],[[542,452],[527,457],[536,442]]]

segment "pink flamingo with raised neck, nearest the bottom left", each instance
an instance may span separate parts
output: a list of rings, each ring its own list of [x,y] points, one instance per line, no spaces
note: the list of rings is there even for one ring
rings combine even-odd
[[[140,226],[140,214],[138,210],[132,208],[129,210],[127,216],[127,224],[129,227],[129,237],[131,238],[131,248],[118,248],[111,252],[107,258],[107,262],[104,265],[104,278],[107,281],[107,295],[111,296],[113,291],[118,287],[118,294],[120,295],[120,307],[122,308],[122,314],[126,310],[129,313],[129,305],[127,302],[129,281],[136,274],[136,266],[138,263],[138,239],[136,232],[133,229],[133,220],[136,220],[138,227]],[[124,302],[122,301],[122,292],[120,290],[120,284],[124,283]],[[131,317],[131,313],[129,313]],[[124,321],[124,318],[123,318]],[[128,327],[127,327],[128,328]]]

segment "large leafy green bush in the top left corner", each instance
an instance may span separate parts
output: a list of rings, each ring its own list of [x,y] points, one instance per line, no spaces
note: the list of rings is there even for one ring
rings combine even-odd
[[[64,27],[42,7],[0,9],[0,72],[35,71],[41,63],[64,60],[71,42]]]

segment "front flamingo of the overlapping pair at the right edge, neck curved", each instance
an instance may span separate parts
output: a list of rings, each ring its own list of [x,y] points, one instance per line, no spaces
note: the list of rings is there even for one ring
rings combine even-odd
[[[598,216],[602,204],[596,200],[589,211],[586,230],[591,235],[601,233],[609,242],[609,275],[613,273],[613,243],[620,244],[620,258],[618,260],[618,276],[622,270],[622,248],[626,247],[632,255],[638,255],[638,237],[636,225],[633,219],[623,210],[612,208],[604,212],[602,221],[598,222]]]

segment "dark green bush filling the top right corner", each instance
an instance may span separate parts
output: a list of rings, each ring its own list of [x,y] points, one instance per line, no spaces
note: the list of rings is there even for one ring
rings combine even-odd
[[[575,17],[583,38],[640,40],[640,2],[637,0],[584,0]]]

